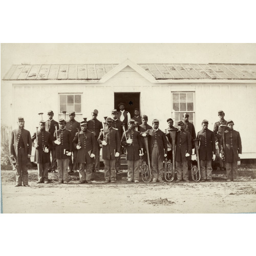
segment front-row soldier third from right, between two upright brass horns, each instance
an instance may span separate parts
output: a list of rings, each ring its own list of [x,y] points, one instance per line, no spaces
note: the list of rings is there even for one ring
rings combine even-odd
[[[189,183],[188,180],[188,167],[187,167],[187,157],[192,154],[192,142],[190,133],[184,130],[184,123],[182,121],[178,122],[178,132],[176,134],[176,151],[175,160],[177,168],[177,181],[182,181]]]

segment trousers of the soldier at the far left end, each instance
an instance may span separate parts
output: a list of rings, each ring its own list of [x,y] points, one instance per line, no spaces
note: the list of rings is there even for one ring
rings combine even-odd
[[[17,170],[16,170],[16,185],[28,185],[28,155],[25,154],[25,148],[18,149],[18,156],[17,156]]]

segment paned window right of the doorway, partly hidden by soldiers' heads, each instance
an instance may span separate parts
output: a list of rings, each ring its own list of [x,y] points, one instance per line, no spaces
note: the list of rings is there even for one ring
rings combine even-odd
[[[194,123],[195,112],[194,112],[194,93],[172,93],[173,98],[173,111],[175,113],[175,126],[180,120],[183,120],[183,114],[189,114],[189,122]]]

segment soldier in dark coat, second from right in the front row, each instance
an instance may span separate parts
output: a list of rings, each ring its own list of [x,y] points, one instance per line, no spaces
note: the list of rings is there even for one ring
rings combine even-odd
[[[208,129],[208,121],[202,121],[203,129],[198,132],[197,139],[199,140],[199,160],[200,160],[200,174],[201,181],[204,182],[206,179],[211,181],[211,159],[215,160],[216,147],[214,132]],[[213,153],[213,154],[212,154]],[[205,168],[206,166],[206,168]]]

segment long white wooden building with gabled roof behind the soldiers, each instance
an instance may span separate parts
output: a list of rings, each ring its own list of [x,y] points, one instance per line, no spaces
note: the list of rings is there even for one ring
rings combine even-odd
[[[212,130],[223,110],[241,134],[242,158],[256,158],[256,65],[137,64],[129,59],[120,64],[13,65],[1,90],[1,125],[14,129],[17,117],[23,116],[31,133],[38,126],[38,113],[47,119],[48,110],[55,120],[61,111],[74,110],[81,121],[97,109],[103,121],[124,102],[128,111],[139,108],[146,114],[149,124],[159,119],[162,130],[167,118],[177,123],[189,112],[196,132],[203,119]]]

